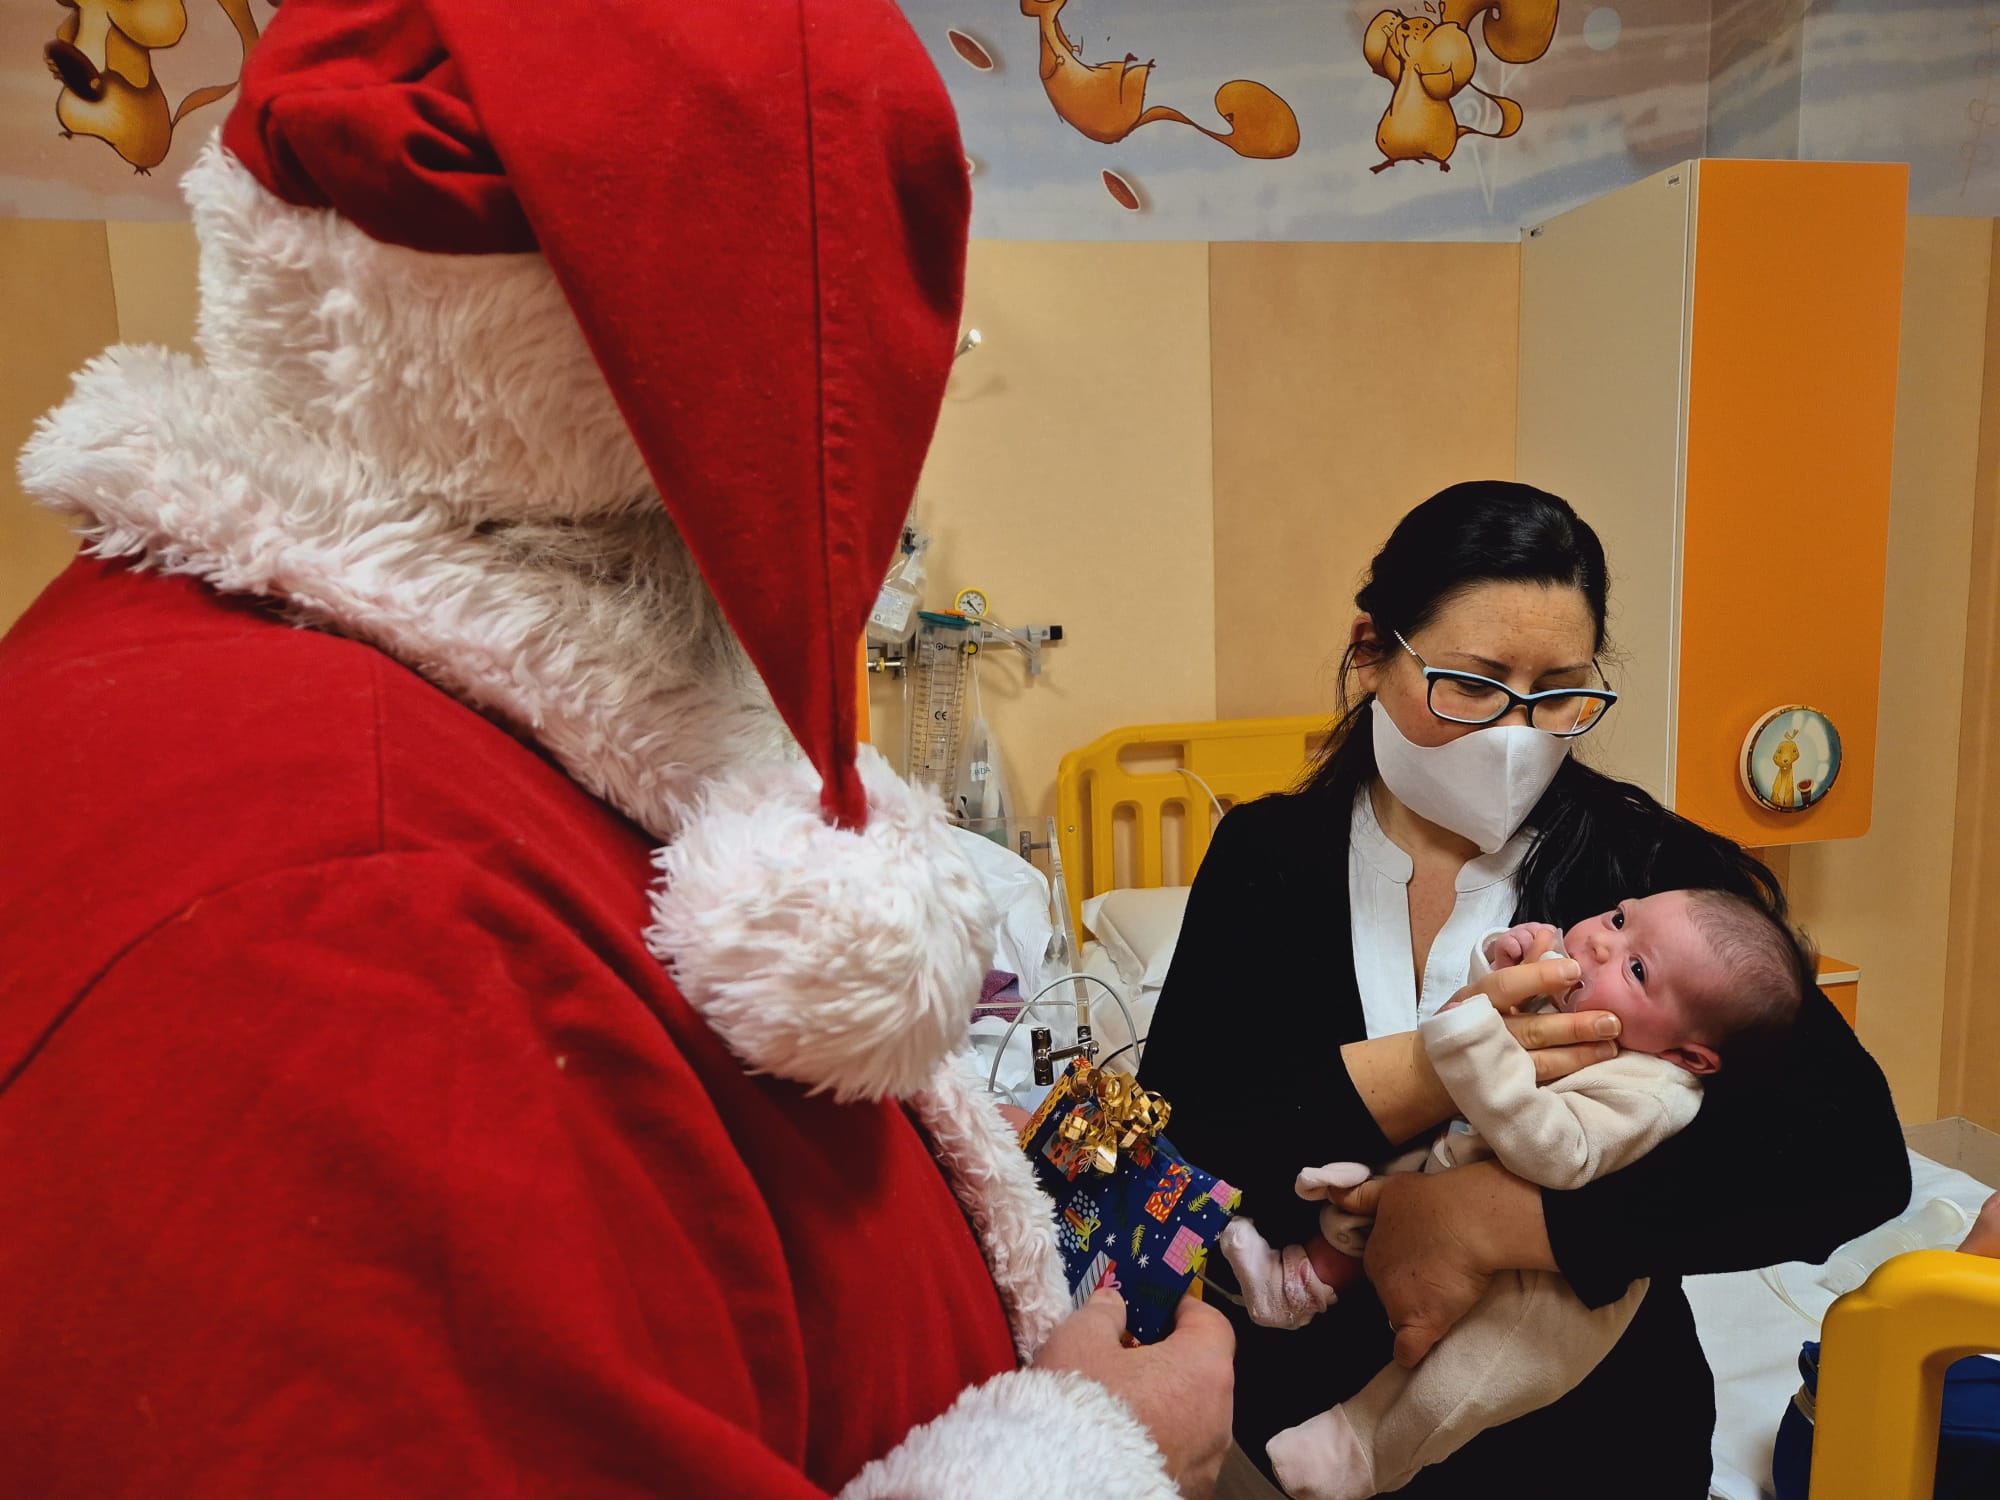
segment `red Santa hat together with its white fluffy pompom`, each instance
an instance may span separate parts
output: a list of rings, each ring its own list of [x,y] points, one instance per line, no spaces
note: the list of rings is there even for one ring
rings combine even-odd
[[[990,910],[942,808],[856,762],[860,636],[950,372],[970,198],[908,24],[888,0],[286,0],[222,144],[374,240],[548,260],[818,772],[710,782],[648,940],[754,1068],[922,1088],[964,1038]]]

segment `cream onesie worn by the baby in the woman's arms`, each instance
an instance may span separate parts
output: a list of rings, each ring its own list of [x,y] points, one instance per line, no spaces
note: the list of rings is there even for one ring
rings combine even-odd
[[[1464,1116],[1430,1148],[1426,1170],[1498,1158],[1544,1188],[1580,1188],[1684,1130],[1702,1106],[1698,1078],[1644,1052],[1620,1052],[1538,1088],[1534,1060],[1484,996],[1420,1030]],[[1302,1190],[1328,1170],[1302,1174]],[[1342,1232],[1348,1216],[1328,1210],[1322,1218],[1330,1240],[1354,1244]],[[1610,1306],[1586,1308],[1556,1272],[1500,1272],[1420,1366],[1388,1366],[1350,1400],[1272,1438],[1278,1482],[1298,1500],[1364,1500],[1402,1488],[1486,1428],[1570,1392],[1612,1350],[1644,1296],[1646,1282],[1634,1282]]]

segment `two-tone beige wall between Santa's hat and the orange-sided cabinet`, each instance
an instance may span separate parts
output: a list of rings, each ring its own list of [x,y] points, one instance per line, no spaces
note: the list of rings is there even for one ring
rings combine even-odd
[[[978,586],[1066,632],[1040,678],[1004,650],[980,672],[1026,812],[1122,724],[1332,702],[1322,668],[1396,516],[1514,472],[1518,276],[1508,244],[972,246],[984,342],[916,512],[932,606]],[[1438,318],[1450,338],[1418,354]],[[900,756],[900,686],[870,710]]]

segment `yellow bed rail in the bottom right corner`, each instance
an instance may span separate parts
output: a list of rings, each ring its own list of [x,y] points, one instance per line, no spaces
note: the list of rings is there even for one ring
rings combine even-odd
[[[1930,1500],[1944,1372],[2000,1352],[2000,1260],[1914,1250],[1834,1302],[1820,1334],[1812,1500]]]

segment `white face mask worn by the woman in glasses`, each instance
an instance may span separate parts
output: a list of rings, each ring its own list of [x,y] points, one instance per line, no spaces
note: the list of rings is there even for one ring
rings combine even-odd
[[[1526,724],[1494,724],[1446,744],[1410,744],[1376,698],[1374,750],[1398,802],[1492,854],[1534,812],[1570,742]]]

